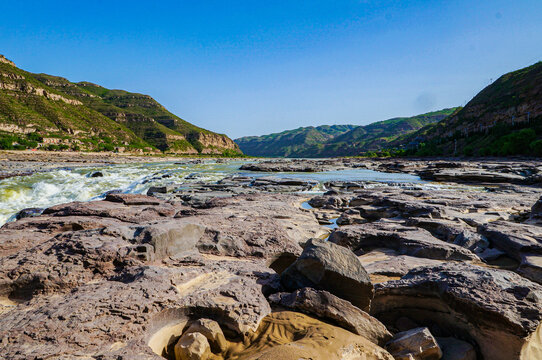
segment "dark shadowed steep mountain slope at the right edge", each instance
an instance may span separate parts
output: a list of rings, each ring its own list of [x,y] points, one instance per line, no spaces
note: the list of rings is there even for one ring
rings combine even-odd
[[[542,155],[542,62],[501,76],[443,121],[396,139],[415,155]]]

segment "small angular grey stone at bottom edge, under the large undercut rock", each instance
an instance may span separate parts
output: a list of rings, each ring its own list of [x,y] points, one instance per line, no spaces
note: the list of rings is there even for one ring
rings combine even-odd
[[[415,328],[395,334],[386,350],[396,360],[439,360],[442,357],[437,341],[428,328]]]

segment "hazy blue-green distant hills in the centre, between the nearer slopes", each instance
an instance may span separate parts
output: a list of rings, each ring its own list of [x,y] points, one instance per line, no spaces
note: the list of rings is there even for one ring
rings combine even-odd
[[[331,125],[302,127],[280,133],[236,139],[252,156],[329,157],[359,155],[379,150],[397,136],[413,132],[452,114],[456,108],[393,118],[366,126]]]

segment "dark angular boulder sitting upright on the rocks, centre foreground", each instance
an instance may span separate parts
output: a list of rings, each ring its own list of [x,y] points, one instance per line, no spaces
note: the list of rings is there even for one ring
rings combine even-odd
[[[368,310],[373,297],[369,275],[352,251],[336,244],[311,239],[301,256],[282,274],[290,291],[304,287],[326,290]]]

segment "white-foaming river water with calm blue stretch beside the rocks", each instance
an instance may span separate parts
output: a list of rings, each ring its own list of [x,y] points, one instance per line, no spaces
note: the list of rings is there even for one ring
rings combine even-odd
[[[103,198],[110,190],[124,193],[146,193],[151,186],[168,183],[216,182],[228,175],[288,176],[317,180],[409,182],[424,183],[409,174],[383,173],[367,169],[348,169],[320,173],[257,173],[239,170],[248,161],[203,164],[174,162],[110,165],[101,167],[54,170],[0,180],[0,226],[13,218],[19,210],[46,208],[70,201],[89,201]],[[100,171],[102,177],[90,175]],[[322,187],[315,191],[322,190]]]

